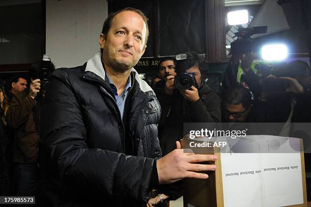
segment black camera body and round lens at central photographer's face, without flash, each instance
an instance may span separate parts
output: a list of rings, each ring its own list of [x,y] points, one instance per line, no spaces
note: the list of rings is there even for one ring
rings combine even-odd
[[[198,83],[194,73],[182,73],[175,77],[174,85],[178,90],[184,91],[195,86],[198,88]]]

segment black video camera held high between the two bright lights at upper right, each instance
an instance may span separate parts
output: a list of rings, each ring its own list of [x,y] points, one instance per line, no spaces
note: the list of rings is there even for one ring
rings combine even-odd
[[[254,26],[251,28],[238,27],[238,32],[234,33],[238,39],[231,43],[231,54],[248,54],[253,50],[252,35],[267,33],[268,26]]]

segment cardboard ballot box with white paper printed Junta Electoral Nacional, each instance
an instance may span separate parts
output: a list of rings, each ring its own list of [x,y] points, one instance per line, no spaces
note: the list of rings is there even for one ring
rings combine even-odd
[[[301,139],[252,135],[184,138],[181,144],[218,157],[207,180],[184,180],[184,206],[307,206]]]

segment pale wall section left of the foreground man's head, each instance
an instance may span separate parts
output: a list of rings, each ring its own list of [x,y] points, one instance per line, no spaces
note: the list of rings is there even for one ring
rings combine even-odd
[[[83,65],[100,51],[106,0],[47,0],[46,53],[56,68]]]

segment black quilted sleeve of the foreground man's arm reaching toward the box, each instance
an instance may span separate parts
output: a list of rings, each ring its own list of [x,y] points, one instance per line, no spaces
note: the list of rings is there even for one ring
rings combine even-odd
[[[79,96],[68,73],[57,69],[47,86],[41,111],[43,168],[77,192],[147,202],[154,159],[89,148]]]

